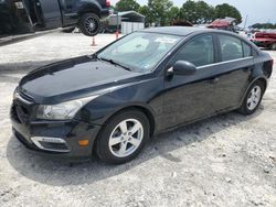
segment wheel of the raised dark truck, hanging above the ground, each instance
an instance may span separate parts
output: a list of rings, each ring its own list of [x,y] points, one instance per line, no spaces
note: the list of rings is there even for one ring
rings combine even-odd
[[[94,13],[82,14],[78,28],[81,32],[86,36],[95,36],[100,32],[100,21],[99,18]]]

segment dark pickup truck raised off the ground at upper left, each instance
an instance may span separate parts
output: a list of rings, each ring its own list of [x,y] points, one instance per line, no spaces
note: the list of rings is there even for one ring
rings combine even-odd
[[[77,25],[88,36],[109,15],[108,0],[1,0],[0,35]]]

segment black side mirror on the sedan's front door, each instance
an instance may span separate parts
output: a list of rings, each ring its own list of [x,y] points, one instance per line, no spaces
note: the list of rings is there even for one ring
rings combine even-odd
[[[168,75],[189,76],[197,72],[195,65],[187,61],[178,61],[168,69]]]

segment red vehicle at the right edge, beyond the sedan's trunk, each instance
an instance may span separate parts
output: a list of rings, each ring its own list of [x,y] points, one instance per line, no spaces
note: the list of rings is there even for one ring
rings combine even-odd
[[[251,41],[257,46],[276,51],[276,32],[256,32]]]

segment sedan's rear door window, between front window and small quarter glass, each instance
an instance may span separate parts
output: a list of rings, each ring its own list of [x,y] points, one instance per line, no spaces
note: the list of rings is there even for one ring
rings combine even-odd
[[[230,35],[219,35],[222,51],[222,61],[231,61],[243,57],[242,42]]]

